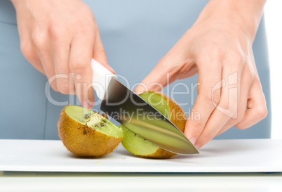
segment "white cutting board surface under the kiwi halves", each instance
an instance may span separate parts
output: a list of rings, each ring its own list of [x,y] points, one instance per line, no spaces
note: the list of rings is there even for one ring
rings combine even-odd
[[[0,140],[0,171],[282,172],[282,140],[213,140],[199,155],[139,158],[122,145],[104,158],[76,158],[62,141]]]

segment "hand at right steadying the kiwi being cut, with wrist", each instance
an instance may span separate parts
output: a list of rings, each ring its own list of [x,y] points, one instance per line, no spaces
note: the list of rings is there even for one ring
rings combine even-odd
[[[198,96],[184,129],[196,148],[232,126],[246,129],[267,115],[252,50],[264,3],[246,4],[210,1],[192,28],[135,89],[140,93],[146,85],[150,91],[161,91],[168,84],[167,74],[172,83],[199,72]],[[196,113],[200,118],[193,118]]]

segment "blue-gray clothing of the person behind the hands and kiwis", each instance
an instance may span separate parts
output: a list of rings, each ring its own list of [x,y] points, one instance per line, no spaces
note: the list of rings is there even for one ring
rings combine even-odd
[[[130,87],[149,74],[156,63],[165,56],[180,37],[191,27],[207,1],[114,1],[88,0],[102,37],[105,51],[116,73],[127,77]],[[268,116],[246,130],[232,127],[215,139],[269,138],[271,130],[271,105],[267,39],[264,18],[253,43],[257,70],[267,99]],[[57,122],[63,105],[53,105],[46,98],[47,78],[35,70],[22,56],[11,1],[0,1],[0,139],[59,139]],[[184,111],[192,109],[196,89],[191,94],[191,84],[197,75],[178,80],[167,89],[190,94],[175,96],[178,103],[188,102]],[[55,101],[68,101],[72,96],[51,90]],[[76,97],[74,97],[76,99]],[[95,106],[96,109],[99,108]]]

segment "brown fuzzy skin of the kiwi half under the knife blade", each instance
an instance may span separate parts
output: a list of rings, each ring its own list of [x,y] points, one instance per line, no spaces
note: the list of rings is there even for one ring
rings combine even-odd
[[[184,111],[182,110],[182,108],[180,108],[180,106],[175,101],[173,101],[173,99],[166,96],[166,94],[163,94],[161,92],[154,92],[154,93],[159,94],[164,99],[166,99],[166,102],[168,102],[168,105],[170,106],[170,112],[171,112],[170,121],[173,122],[173,124],[175,124],[175,126],[178,129],[180,129],[181,132],[184,132],[187,117]],[[155,153],[152,153],[150,155],[142,155],[142,157],[167,159],[167,158],[173,158],[176,155],[177,155],[176,153],[171,153],[170,151],[166,151],[163,148],[158,148]]]

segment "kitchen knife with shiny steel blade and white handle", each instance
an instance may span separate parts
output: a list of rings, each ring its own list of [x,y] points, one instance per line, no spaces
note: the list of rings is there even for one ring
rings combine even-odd
[[[119,82],[116,75],[94,59],[91,67],[92,87],[102,100],[103,112],[167,151],[182,155],[199,153],[175,124]]]

